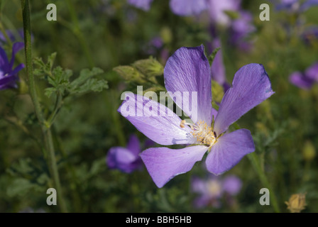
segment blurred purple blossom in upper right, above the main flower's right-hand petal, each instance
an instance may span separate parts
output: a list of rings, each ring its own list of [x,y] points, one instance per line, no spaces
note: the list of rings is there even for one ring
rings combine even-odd
[[[253,26],[253,16],[248,11],[240,11],[240,17],[231,23],[230,28],[230,43],[237,46],[241,50],[251,50],[252,43],[247,40],[248,35],[256,31]]]

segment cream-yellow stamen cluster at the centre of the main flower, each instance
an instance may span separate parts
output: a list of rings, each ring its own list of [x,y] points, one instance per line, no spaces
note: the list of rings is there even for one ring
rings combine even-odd
[[[185,125],[190,126],[190,128],[192,129],[191,134],[194,138],[197,139],[197,142],[206,144],[210,148],[212,147],[212,145],[214,145],[214,143],[216,143],[217,138],[212,127],[207,126],[207,123],[205,123],[204,121],[198,121],[197,123],[192,124],[186,123],[185,120],[182,120],[180,123],[180,127],[185,128]]]

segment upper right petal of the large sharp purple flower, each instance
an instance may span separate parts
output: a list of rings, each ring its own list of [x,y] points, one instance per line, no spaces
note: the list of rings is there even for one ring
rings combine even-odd
[[[219,106],[214,123],[216,135],[226,131],[238,118],[272,94],[270,79],[263,65],[252,63],[241,67]]]

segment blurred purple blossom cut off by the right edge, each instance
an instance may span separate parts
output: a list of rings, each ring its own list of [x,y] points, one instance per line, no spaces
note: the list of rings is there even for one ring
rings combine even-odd
[[[318,62],[308,67],[305,72],[292,72],[290,82],[302,89],[310,89],[314,82],[318,82]]]

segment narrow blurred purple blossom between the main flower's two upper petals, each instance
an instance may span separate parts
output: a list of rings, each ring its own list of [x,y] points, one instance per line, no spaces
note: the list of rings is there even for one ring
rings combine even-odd
[[[214,40],[212,41],[212,50],[214,50],[215,48],[221,48],[221,40],[219,38],[214,38]],[[230,85],[228,82],[226,82],[225,67],[223,64],[223,56],[221,50],[219,50],[214,57],[211,65],[211,74],[212,79],[223,86],[225,93],[227,89],[230,88]]]

